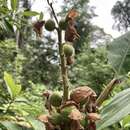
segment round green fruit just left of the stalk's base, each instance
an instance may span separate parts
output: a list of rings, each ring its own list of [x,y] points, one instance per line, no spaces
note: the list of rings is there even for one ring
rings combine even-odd
[[[55,92],[50,96],[50,104],[54,107],[59,107],[62,103],[62,97],[59,93]]]

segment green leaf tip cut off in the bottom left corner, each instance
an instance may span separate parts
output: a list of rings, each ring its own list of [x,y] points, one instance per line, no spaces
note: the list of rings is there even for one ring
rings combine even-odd
[[[0,122],[7,130],[22,130],[17,124],[10,121],[2,121]]]

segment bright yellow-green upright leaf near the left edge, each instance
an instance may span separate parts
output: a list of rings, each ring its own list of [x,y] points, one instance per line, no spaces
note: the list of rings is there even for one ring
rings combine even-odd
[[[4,72],[4,80],[11,98],[15,98],[21,92],[21,85],[16,85],[12,76]]]

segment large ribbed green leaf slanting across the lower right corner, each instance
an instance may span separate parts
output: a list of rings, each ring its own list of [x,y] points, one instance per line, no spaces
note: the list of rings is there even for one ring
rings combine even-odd
[[[100,114],[97,130],[102,130],[130,114],[130,88],[118,93]]]

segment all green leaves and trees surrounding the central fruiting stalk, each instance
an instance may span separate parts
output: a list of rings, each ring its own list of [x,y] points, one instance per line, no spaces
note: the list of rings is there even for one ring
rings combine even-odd
[[[113,40],[91,23],[96,14],[89,0],[63,3],[58,13],[61,18],[71,8],[80,13],[76,23],[80,39],[74,44],[76,60],[69,68],[71,87],[88,85],[100,95],[113,78],[118,79],[99,109],[103,120],[97,123],[97,129],[129,130],[129,32]],[[112,9],[115,27],[120,31],[129,30],[129,3],[118,1]],[[44,125],[37,120],[47,113],[42,93],[46,89],[62,90],[55,32],[36,36],[32,17],[40,20],[44,16],[32,11],[31,4],[30,0],[0,0],[0,130],[43,130]]]

